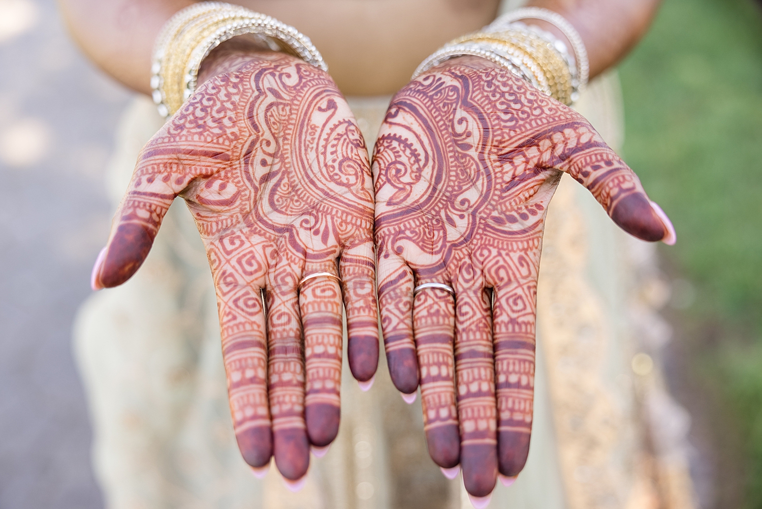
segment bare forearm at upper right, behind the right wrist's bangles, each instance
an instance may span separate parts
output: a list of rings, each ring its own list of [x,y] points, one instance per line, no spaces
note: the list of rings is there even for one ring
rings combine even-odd
[[[574,25],[588,50],[592,78],[632,50],[648,31],[660,3],[661,0],[532,0],[529,5],[558,12]],[[548,23],[532,23],[563,37]]]

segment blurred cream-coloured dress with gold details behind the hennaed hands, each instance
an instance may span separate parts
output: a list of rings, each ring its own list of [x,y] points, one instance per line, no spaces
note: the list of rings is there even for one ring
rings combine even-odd
[[[612,147],[622,141],[619,90],[610,73],[577,105]],[[373,147],[389,98],[349,103]],[[114,209],[139,150],[161,126],[149,98],[126,108],[107,170]],[[645,446],[653,442],[646,400],[661,398],[658,411],[670,418],[674,404],[658,373],[630,369],[648,334],[658,341],[663,328],[652,311],[658,297],[640,288],[656,285],[658,294],[652,258],[652,246],[621,233],[584,188],[562,179],[540,265],[530,455],[511,488],[498,483],[490,507],[690,507],[684,455]],[[632,317],[657,332],[635,337]],[[303,491],[287,491],[274,468],[262,481],[251,475],[232,433],[207,257],[181,200],[139,272],[85,302],[74,337],[109,509],[471,507],[462,482],[448,481],[428,458],[420,398],[402,401],[383,355],[367,393],[344,360],[341,429],[325,457],[312,457]]]

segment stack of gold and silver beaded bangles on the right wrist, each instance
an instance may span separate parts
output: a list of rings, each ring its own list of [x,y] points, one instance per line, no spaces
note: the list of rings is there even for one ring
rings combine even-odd
[[[535,25],[519,20],[547,21],[561,31],[571,44]],[[588,53],[571,24],[553,11],[521,8],[496,19],[482,31],[451,40],[415,69],[413,78],[456,56],[481,56],[527,80],[565,105],[571,105],[588,82]]]

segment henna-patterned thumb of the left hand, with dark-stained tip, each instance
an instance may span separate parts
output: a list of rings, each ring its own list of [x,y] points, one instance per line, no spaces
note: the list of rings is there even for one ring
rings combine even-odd
[[[122,202],[114,216],[111,233],[93,267],[94,290],[121,285],[137,272],[148,256],[153,240],[174,198],[187,185],[178,159],[167,150],[143,150]]]

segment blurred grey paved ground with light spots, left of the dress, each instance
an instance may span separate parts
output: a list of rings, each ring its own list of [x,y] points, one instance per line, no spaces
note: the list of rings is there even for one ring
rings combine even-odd
[[[103,507],[70,337],[129,94],[78,53],[53,0],[0,0],[0,69],[0,507]]]

